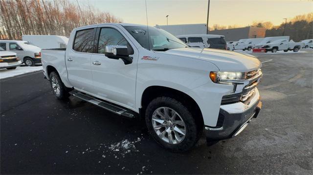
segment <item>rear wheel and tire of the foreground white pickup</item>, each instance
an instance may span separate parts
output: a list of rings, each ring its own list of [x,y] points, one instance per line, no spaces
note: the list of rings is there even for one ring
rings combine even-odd
[[[69,97],[67,88],[63,84],[57,72],[54,72],[54,71],[51,72],[49,75],[49,79],[50,79],[51,89],[55,97],[57,97],[58,99],[65,99]]]

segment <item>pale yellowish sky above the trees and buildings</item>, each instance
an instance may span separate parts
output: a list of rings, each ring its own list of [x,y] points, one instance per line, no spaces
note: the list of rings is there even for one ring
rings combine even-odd
[[[77,3],[76,0],[71,0]],[[110,12],[123,22],[147,24],[145,0],[78,0]],[[207,0],[147,0],[148,24],[206,23]],[[247,26],[253,21],[281,24],[284,19],[313,12],[313,0],[210,0],[209,26]]]

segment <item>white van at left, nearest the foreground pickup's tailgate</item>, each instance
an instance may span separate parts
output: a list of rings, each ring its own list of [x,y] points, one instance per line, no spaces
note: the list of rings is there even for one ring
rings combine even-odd
[[[35,66],[41,63],[41,48],[23,40],[0,40],[0,44],[5,44],[6,51],[13,51],[27,66]]]

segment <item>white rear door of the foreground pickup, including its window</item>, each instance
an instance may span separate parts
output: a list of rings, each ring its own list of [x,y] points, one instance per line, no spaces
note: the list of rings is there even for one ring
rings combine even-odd
[[[68,80],[74,88],[92,92],[91,55],[94,52],[96,28],[76,31],[72,46],[66,52]]]

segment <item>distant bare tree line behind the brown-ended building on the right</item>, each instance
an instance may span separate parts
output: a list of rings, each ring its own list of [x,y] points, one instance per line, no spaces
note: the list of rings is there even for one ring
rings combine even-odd
[[[270,21],[253,21],[251,26],[266,28],[266,37],[283,36],[284,33],[284,36],[290,36],[290,39],[294,41],[313,39],[313,13],[295,16],[294,18],[287,20],[286,23],[282,22],[277,26],[273,25]],[[221,26],[214,24],[213,28],[210,28],[210,30],[232,29],[238,27],[243,26]]]

